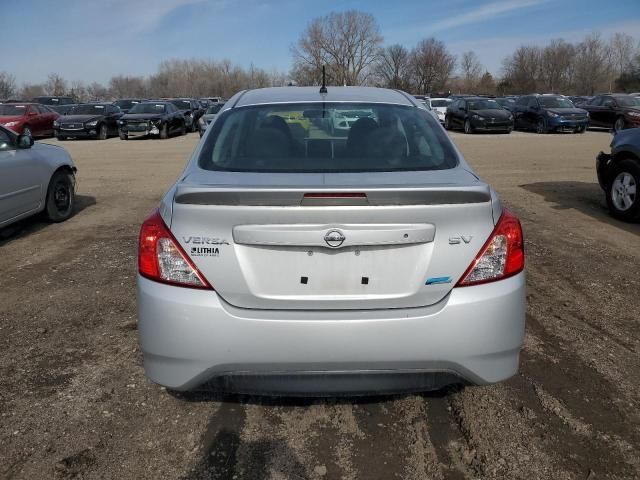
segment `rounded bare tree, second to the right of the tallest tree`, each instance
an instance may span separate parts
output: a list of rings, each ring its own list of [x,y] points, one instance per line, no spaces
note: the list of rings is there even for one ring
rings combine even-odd
[[[417,92],[444,89],[455,68],[455,57],[435,38],[421,40],[411,51],[411,72]]]

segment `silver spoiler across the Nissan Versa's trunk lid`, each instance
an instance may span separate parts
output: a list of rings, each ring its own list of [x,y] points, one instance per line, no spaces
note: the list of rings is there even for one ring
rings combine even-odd
[[[366,197],[305,198],[305,193],[364,193]],[[487,185],[430,187],[178,187],[176,204],[218,206],[390,206],[491,202]]]

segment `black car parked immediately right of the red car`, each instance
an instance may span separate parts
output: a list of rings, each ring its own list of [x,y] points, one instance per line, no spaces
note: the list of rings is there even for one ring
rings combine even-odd
[[[122,115],[120,109],[111,103],[83,103],[73,107],[67,115],[59,117],[53,126],[59,140],[106,140],[118,135],[118,120]]]

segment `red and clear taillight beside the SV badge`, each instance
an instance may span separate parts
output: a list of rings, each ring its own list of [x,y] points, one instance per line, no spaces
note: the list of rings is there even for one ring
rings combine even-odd
[[[491,236],[462,275],[457,287],[511,277],[524,270],[524,238],[520,221],[506,208]]]

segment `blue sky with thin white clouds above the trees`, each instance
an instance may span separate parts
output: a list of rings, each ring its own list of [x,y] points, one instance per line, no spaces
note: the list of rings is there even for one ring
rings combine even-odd
[[[3,5],[4,4],[4,5]],[[108,83],[148,75],[169,58],[229,59],[289,71],[290,47],[312,19],[371,13],[385,44],[434,36],[457,55],[474,50],[490,72],[521,44],[579,41],[597,31],[640,41],[640,0],[0,0],[0,71],[18,84],[55,72]]]

